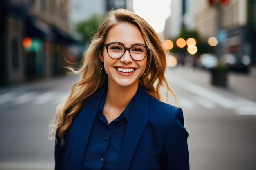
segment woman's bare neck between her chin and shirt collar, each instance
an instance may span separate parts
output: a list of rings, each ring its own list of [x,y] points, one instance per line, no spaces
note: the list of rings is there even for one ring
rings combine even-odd
[[[130,86],[120,86],[115,82],[108,82],[108,92],[106,95],[105,105],[117,109],[124,109],[131,101],[138,89],[139,81]]]

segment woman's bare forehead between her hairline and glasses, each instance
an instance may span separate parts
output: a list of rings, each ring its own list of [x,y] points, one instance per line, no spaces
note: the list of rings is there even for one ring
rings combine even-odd
[[[108,31],[105,43],[111,42],[122,42],[125,46],[130,46],[134,43],[145,45],[143,35],[137,26],[128,22],[121,22]]]

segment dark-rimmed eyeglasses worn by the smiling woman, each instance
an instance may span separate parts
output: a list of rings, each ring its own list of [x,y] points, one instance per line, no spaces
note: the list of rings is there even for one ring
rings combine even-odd
[[[128,50],[133,60],[141,61],[146,57],[149,50],[147,46],[143,45],[135,45],[128,48],[121,44],[109,43],[104,44],[104,46],[106,46],[108,56],[113,59],[119,59],[123,57],[126,50]]]

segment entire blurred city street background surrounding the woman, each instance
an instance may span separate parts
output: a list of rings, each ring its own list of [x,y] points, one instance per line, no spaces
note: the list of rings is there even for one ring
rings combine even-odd
[[[256,0],[1,2],[0,170],[54,169],[49,124],[79,79],[65,68],[79,67],[104,16],[119,8],[163,36],[166,56],[156,57],[166,57],[184,113],[190,169],[256,170]]]

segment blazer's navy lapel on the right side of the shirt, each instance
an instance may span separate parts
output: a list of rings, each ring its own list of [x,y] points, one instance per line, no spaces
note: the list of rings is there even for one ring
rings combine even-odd
[[[139,139],[148,122],[148,93],[139,85],[130,111],[117,170],[128,170]]]

